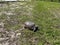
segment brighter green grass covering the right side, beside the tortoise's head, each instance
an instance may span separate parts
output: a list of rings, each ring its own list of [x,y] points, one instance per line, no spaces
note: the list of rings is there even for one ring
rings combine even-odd
[[[50,12],[53,9],[56,11],[60,10],[60,4],[55,2],[36,1],[34,5],[34,21],[39,25],[39,27],[41,27],[38,31],[43,33],[43,35],[40,34],[41,37],[44,36],[40,39],[38,45],[60,45],[60,27],[57,27],[60,25],[60,17],[55,17],[55,15]]]

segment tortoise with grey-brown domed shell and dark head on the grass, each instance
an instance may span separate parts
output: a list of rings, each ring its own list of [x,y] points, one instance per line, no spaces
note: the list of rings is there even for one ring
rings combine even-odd
[[[32,30],[34,32],[36,32],[38,30],[38,26],[34,22],[31,22],[31,21],[26,21],[24,23],[24,28]]]

